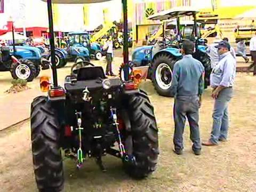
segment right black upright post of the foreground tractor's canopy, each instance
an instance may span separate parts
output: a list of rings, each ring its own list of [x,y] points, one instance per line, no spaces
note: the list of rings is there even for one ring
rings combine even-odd
[[[128,49],[128,21],[127,21],[127,0],[122,0],[123,3],[123,57],[124,57],[124,79],[129,80],[129,49]]]

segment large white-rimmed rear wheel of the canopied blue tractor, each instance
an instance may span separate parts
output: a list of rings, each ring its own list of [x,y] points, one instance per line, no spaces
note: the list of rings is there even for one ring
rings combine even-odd
[[[153,65],[151,66],[151,80],[155,87],[156,92],[159,95],[164,97],[171,97],[171,82],[172,82],[172,71],[175,62],[179,59],[174,58],[170,54],[159,54],[153,61]],[[160,72],[165,68],[167,71],[166,77],[164,77]],[[160,71],[161,70],[161,71]]]

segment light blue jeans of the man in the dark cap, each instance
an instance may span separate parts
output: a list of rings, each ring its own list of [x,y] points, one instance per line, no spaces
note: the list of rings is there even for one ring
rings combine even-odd
[[[233,95],[233,88],[228,87],[220,91],[214,102],[213,125],[211,142],[218,144],[219,139],[227,139],[228,136],[228,103]]]

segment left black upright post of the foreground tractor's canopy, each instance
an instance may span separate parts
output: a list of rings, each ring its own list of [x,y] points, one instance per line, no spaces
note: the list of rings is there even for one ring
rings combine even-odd
[[[47,0],[47,9],[48,9],[49,31],[50,31],[53,86],[57,87],[58,79],[57,79],[57,69],[56,69],[56,61],[55,61],[55,42],[54,42],[54,31],[53,31],[52,0]]]

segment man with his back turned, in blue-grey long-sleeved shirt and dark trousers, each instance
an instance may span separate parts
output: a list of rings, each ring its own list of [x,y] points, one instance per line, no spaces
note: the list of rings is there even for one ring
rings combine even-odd
[[[174,153],[182,154],[183,132],[188,118],[190,126],[190,139],[193,142],[192,150],[195,155],[201,154],[201,141],[199,134],[199,114],[201,95],[204,90],[204,66],[192,57],[194,43],[183,41],[181,52],[183,58],[177,61],[173,69],[171,95],[174,99]]]

